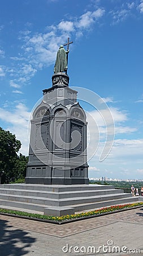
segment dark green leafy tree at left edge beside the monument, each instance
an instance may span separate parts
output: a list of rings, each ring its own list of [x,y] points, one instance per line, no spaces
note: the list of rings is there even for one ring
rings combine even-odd
[[[28,157],[17,154],[20,147],[21,142],[15,135],[0,127],[0,175],[3,174],[1,183],[10,183],[25,177]]]

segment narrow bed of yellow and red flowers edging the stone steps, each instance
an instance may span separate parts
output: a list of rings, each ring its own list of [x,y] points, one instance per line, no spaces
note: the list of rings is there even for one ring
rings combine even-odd
[[[69,220],[81,220],[83,218],[88,217],[96,217],[107,213],[118,212],[125,209],[132,209],[135,207],[141,207],[143,202],[140,203],[133,203],[133,204],[121,204],[121,205],[113,205],[111,207],[103,207],[101,209],[92,210],[90,212],[83,212],[83,213],[76,213],[64,216],[46,216],[42,214],[36,213],[28,213],[28,212],[20,212],[19,210],[8,210],[8,209],[0,209],[0,214],[8,214],[15,217],[23,217],[32,220],[39,220],[39,221],[47,221],[53,222],[57,224],[62,224],[63,222],[67,222]]]

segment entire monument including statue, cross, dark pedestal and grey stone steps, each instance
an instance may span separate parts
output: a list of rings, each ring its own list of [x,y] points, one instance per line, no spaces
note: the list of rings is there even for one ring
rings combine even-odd
[[[52,86],[31,120],[25,184],[0,185],[3,209],[53,216],[142,200],[110,185],[88,184],[86,115],[68,87],[68,53],[59,47]]]

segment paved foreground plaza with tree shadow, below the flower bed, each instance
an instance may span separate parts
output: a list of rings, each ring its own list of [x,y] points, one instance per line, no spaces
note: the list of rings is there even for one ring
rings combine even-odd
[[[142,220],[143,208],[63,225],[0,215],[0,255],[143,255]]]

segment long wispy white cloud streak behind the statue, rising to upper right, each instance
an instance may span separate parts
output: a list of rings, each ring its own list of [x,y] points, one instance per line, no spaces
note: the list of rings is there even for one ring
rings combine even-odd
[[[12,67],[7,69],[13,81],[10,86],[20,88],[31,80],[37,70],[54,64],[60,44],[66,43],[67,38],[73,33],[76,38],[83,36],[84,30],[96,23],[104,13],[104,9],[94,7],[93,11],[87,11],[80,17],[71,17],[70,20],[62,20],[58,24],[47,26],[46,32],[33,34],[32,30],[20,31],[21,51],[17,56],[10,57],[12,61],[18,61],[18,65],[12,63]]]

